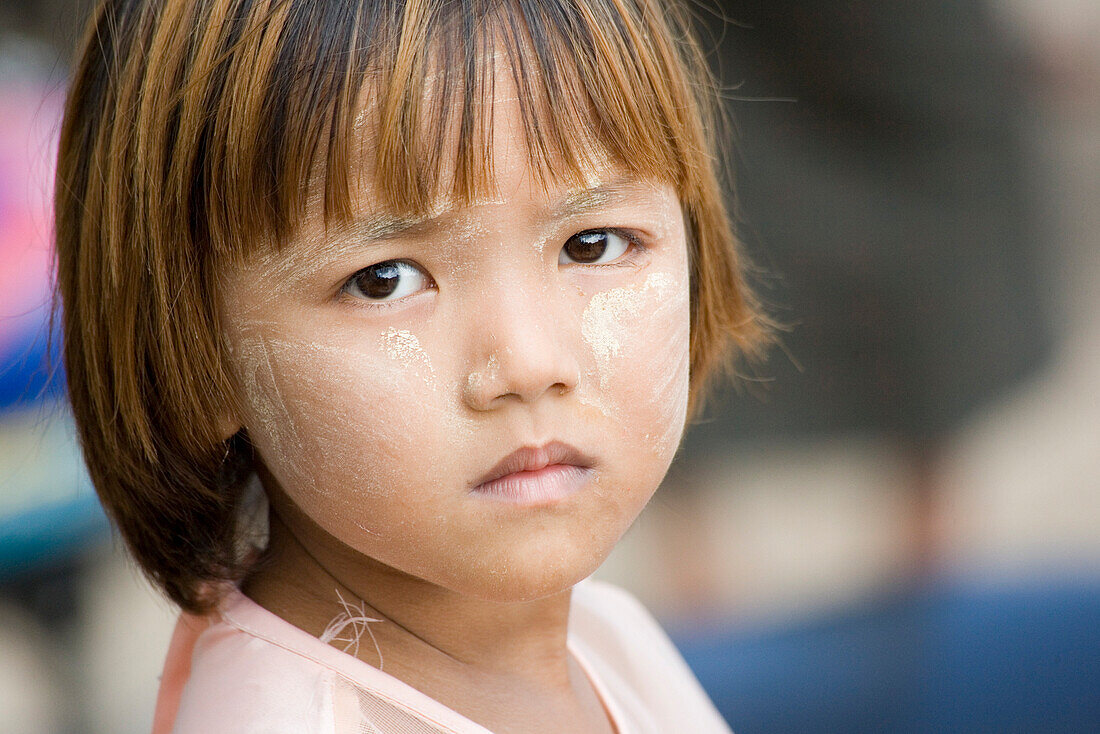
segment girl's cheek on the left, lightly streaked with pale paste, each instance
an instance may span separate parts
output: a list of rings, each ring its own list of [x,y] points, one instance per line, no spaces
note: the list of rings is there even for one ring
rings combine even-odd
[[[319,514],[392,496],[408,458],[438,440],[431,427],[448,423],[433,366],[408,331],[343,346],[251,335],[235,352],[253,443],[290,499]]]

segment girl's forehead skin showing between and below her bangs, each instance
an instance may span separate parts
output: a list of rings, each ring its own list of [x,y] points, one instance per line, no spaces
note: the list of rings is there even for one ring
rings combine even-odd
[[[298,222],[299,233],[300,230],[314,230],[315,233],[318,229],[352,230],[361,239],[389,239],[424,231],[494,205],[527,206],[532,216],[557,220],[669,191],[670,180],[639,174],[634,166],[615,160],[607,146],[596,139],[584,145],[583,157],[573,156],[568,163],[559,158],[540,166],[539,142],[528,139],[524,125],[524,102],[519,98],[512,61],[498,51],[490,61],[495,81],[493,96],[483,100],[482,111],[486,118],[482,121],[482,134],[485,138],[484,145],[479,145],[479,169],[473,180],[461,180],[474,172],[463,168],[470,165],[463,154],[463,131],[459,121],[452,119],[446,128],[430,125],[421,133],[439,142],[439,155],[433,158],[436,185],[428,187],[421,182],[428,196],[420,200],[414,196],[415,191],[399,190],[397,187],[403,182],[387,176],[380,161],[382,94],[375,85],[367,84],[360,92],[352,129],[348,158],[351,199],[346,216],[332,221],[326,215],[329,172],[317,167],[310,177],[304,217]],[[428,75],[420,103],[433,105],[440,94],[437,85],[441,84],[440,74]],[[469,146],[470,141],[465,145]],[[414,179],[404,183],[413,184]],[[466,186],[463,187],[463,183]],[[292,237],[283,240],[283,244],[300,245],[304,240],[316,243],[316,238]]]

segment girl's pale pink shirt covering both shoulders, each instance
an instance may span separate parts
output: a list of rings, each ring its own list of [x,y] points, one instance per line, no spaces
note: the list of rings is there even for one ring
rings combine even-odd
[[[569,649],[619,734],[729,734],[668,636],[617,587],[573,590]],[[393,676],[233,590],[217,615],[182,615],[153,734],[490,734]]]

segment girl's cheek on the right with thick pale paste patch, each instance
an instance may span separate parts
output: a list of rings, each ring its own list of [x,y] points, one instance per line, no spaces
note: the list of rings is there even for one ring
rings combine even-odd
[[[688,412],[691,314],[686,274],[654,272],[592,297],[586,401],[654,457],[671,461]]]

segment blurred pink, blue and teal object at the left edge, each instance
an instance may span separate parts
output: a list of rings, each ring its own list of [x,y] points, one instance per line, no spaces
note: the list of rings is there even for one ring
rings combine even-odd
[[[0,581],[50,579],[108,528],[50,360],[61,354],[47,320],[62,92],[0,53]]]

